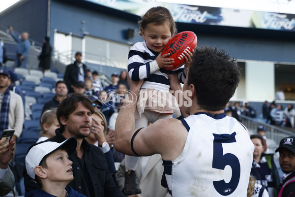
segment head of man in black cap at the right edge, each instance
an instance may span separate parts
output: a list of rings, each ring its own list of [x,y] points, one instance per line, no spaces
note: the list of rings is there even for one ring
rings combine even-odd
[[[280,146],[275,150],[280,152],[280,166],[286,174],[295,170],[295,136],[285,137],[280,141]]]

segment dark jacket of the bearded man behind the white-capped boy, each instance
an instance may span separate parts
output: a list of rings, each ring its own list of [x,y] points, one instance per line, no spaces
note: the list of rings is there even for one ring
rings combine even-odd
[[[60,143],[64,140],[66,139],[61,134],[60,130],[57,129],[56,136],[46,141],[55,141]],[[86,163],[86,168],[89,172],[89,179],[91,180],[92,184],[88,185],[84,182],[85,177],[78,162],[80,158],[78,158],[77,152],[74,151],[69,156],[69,160],[73,162],[72,168],[74,180],[72,180],[68,186],[87,197],[125,197],[125,195],[116,186],[112,175],[108,170],[108,165],[103,152],[98,147],[89,144],[86,139],[83,139],[81,146],[84,148],[83,158]],[[83,170],[86,169],[84,168]],[[40,189],[38,184],[29,177],[26,169],[24,171],[26,193],[31,190]],[[93,196],[89,195],[89,188],[94,189]]]

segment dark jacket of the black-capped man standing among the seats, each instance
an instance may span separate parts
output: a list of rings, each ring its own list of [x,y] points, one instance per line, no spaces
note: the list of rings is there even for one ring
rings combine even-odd
[[[87,66],[83,64],[84,70],[84,79],[86,79],[86,70]],[[78,73],[80,72],[80,68],[77,65],[77,61],[74,64],[66,66],[63,80],[66,82],[66,85],[69,89],[69,93],[73,93],[74,90],[71,88],[71,85],[75,85],[78,82]]]

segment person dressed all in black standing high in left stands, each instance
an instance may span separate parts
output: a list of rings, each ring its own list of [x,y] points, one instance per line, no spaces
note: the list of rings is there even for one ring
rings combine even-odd
[[[38,60],[40,61],[39,67],[43,69],[43,72],[45,72],[50,70],[52,47],[49,43],[48,36],[44,37],[43,42],[44,44],[42,46],[42,51],[38,56]]]

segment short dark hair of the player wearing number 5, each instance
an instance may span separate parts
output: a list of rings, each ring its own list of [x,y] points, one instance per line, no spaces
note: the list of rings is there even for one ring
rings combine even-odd
[[[193,84],[203,109],[223,110],[233,97],[240,71],[236,60],[217,47],[196,48],[189,67],[187,85]]]

